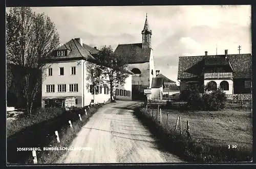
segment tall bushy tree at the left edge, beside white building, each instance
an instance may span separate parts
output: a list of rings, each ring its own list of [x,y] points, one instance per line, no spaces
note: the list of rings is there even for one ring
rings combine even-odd
[[[22,69],[14,83],[31,114],[46,68],[40,59],[49,57],[58,46],[59,35],[48,16],[29,7],[11,8],[6,13],[6,34],[7,60]]]

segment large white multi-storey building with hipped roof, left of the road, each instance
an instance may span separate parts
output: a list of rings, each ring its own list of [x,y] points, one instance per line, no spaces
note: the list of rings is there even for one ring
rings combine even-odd
[[[95,86],[90,76],[91,68],[97,64],[95,55],[98,52],[96,47],[75,38],[58,47],[51,57],[44,58],[47,69],[42,73],[42,107],[53,103],[63,106],[67,98],[72,98],[71,102],[75,102],[77,107],[108,101],[110,86]],[[108,80],[108,76],[101,76],[103,80]],[[126,82],[129,80],[131,77]],[[127,92],[131,93],[131,89]]]

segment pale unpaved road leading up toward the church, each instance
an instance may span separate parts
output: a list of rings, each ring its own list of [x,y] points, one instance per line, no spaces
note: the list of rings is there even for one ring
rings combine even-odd
[[[100,108],[84,125],[57,163],[182,162],[161,150],[156,138],[133,115],[139,102],[117,101]]]

